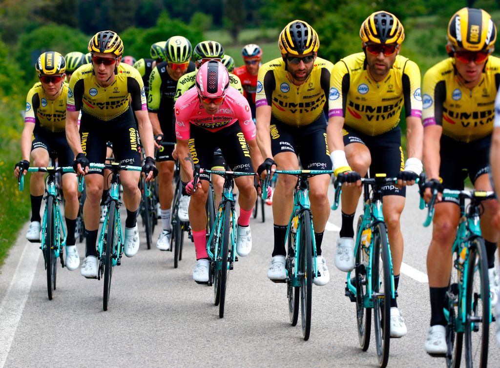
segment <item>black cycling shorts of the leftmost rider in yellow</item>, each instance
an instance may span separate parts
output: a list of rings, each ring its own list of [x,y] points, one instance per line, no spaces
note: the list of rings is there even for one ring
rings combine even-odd
[[[31,137],[31,150],[36,148],[43,148],[48,151],[51,158],[57,158],[59,166],[73,165],[74,154],[67,143],[64,131],[50,132],[43,128],[35,129]]]

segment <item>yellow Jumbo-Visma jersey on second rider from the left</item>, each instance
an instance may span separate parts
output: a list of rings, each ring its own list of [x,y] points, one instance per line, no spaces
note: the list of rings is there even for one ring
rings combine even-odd
[[[87,113],[109,121],[128,110],[146,110],[146,94],[139,72],[120,62],[113,82],[107,87],[97,83],[92,63],[80,66],[71,75],[67,93],[67,110]],[[131,100],[130,100],[131,97]]]

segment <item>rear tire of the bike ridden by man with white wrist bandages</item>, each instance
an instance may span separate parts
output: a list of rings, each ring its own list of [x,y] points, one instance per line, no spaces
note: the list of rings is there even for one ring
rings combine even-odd
[[[363,221],[363,215],[359,215],[357,219],[356,234],[359,233],[359,227]],[[357,323],[357,336],[361,350],[366,351],[370,345],[370,332],[371,332],[371,308],[364,307],[364,295],[366,287],[366,268],[361,266],[363,264],[363,251],[360,239],[357,247],[355,272],[355,286],[356,286],[356,323]]]

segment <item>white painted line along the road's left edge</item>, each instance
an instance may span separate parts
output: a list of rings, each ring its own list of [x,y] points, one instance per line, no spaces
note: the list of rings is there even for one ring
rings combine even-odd
[[[40,253],[40,249],[36,244],[26,242],[19,263],[17,263],[12,275],[12,281],[0,304],[0,368],[3,367],[7,360],[33,282]]]

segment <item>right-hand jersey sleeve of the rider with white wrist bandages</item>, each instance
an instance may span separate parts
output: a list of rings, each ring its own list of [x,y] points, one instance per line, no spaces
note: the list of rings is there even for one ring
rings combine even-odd
[[[404,110],[406,117],[422,117],[422,96],[420,91],[420,69],[418,65],[407,60],[402,74]]]

